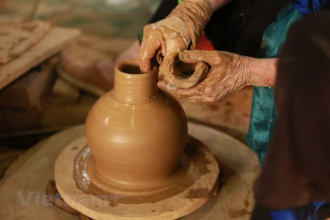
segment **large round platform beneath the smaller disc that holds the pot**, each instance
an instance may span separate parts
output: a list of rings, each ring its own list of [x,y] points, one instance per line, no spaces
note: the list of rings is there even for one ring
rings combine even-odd
[[[199,124],[189,123],[188,127],[190,135],[206,144],[219,159],[225,177],[216,197],[181,219],[250,219],[254,206],[252,185],[260,170],[256,155],[225,133]],[[0,181],[0,219],[79,219],[47,201],[45,187],[54,179],[56,157],[67,144],[84,135],[85,126],[75,126],[30,148],[14,162]]]

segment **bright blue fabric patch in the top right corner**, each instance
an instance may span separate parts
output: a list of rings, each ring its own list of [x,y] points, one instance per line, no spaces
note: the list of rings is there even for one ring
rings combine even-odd
[[[329,0],[295,0],[294,7],[301,14],[310,14],[312,12],[318,12],[328,3]]]

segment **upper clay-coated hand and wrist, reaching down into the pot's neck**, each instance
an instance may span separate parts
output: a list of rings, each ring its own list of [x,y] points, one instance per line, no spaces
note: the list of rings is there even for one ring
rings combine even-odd
[[[208,0],[184,0],[162,21],[144,26],[138,60],[142,72],[151,71],[151,59],[160,48],[164,60],[170,54],[195,49],[198,37],[210,20]]]

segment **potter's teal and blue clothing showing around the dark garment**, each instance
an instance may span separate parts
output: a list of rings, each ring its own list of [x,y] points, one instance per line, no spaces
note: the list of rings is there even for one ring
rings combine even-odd
[[[303,19],[311,12],[319,11],[328,1],[295,1],[289,3],[278,13],[274,21],[265,31],[259,58],[276,58],[293,23]],[[312,7],[311,7],[312,5]],[[263,166],[268,142],[272,138],[276,123],[277,111],[274,102],[274,87],[254,87],[252,115],[248,143]],[[297,208],[271,210],[256,204],[252,220],[325,220],[330,217],[330,203],[315,201]]]

